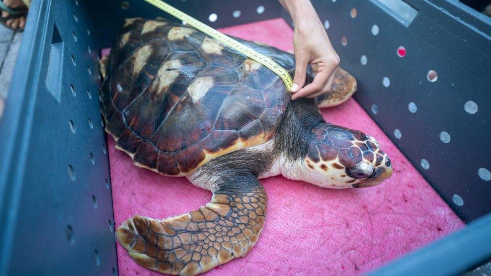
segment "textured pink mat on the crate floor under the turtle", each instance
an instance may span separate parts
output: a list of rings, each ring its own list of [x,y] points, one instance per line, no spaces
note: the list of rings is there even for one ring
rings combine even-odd
[[[221,31],[292,49],[293,31],[282,19]],[[374,136],[392,160],[392,177],[373,188],[344,190],[322,189],[282,176],[262,179],[269,198],[268,217],[256,247],[247,257],[208,275],[359,274],[464,226],[355,100],[323,109],[322,115],[328,122]],[[129,156],[114,148],[113,138],[108,139],[117,226],[136,214],[166,218],[210,201],[209,191],[184,177],[166,177],[134,166]],[[119,244],[117,250],[122,275],[156,274],[138,266]]]

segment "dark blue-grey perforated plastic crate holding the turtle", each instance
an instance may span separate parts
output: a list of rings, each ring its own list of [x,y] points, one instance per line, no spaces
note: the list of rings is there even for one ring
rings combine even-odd
[[[491,20],[451,0],[406,1],[408,14],[312,2],[358,79],[356,100],[464,221],[489,213]],[[215,28],[288,19],[276,0],[168,3]],[[142,0],[33,3],[0,124],[0,274],[118,272],[98,53],[137,16],[166,14]],[[376,273],[470,269],[491,258],[489,220]]]

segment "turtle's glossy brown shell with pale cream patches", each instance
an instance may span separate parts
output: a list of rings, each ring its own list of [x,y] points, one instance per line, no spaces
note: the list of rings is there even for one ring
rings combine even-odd
[[[291,54],[241,42],[293,71]],[[265,66],[165,19],[126,20],[106,69],[106,130],[137,165],[166,175],[267,142],[290,101]]]

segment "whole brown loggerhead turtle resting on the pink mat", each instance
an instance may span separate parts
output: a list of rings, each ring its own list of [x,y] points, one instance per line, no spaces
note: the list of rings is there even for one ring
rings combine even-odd
[[[293,55],[237,40],[294,72]],[[137,166],[186,176],[213,192],[197,211],[163,220],[134,216],[119,226],[120,244],[146,268],[197,274],[248,254],[267,213],[259,178],[361,188],[392,173],[374,138],[319,114],[356,90],[342,69],[329,94],[291,101],[282,80],[260,63],[193,28],[134,18],[122,27],[106,70],[102,113],[116,147]]]

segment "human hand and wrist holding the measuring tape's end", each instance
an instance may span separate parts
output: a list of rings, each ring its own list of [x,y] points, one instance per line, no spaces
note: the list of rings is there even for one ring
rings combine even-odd
[[[313,98],[328,93],[333,85],[340,58],[329,41],[324,26],[308,0],[280,0],[290,13],[294,23],[293,48],[295,75],[292,100]],[[317,74],[312,83],[306,85],[307,66],[316,67]]]

